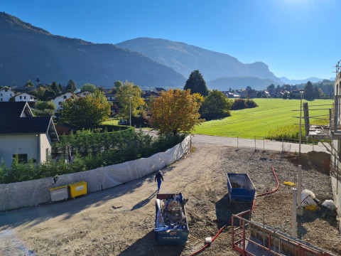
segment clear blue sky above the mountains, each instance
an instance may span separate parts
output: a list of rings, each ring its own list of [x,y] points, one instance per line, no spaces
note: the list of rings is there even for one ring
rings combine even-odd
[[[278,78],[333,78],[341,58],[338,0],[1,0],[0,11],[93,43],[180,41],[262,61]]]

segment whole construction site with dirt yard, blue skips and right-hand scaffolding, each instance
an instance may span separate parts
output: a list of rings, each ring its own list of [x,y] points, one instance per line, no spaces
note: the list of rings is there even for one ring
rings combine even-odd
[[[306,137],[328,153],[193,143],[161,170],[160,194],[150,174],[1,212],[0,255],[341,255],[340,80],[339,62],[334,105],[300,109]]]

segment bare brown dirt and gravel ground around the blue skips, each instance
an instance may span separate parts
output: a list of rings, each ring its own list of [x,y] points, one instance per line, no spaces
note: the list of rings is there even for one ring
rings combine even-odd
[[[303,188],[320,201],[332,199],[330,177],[323,170],[327,156],[287,156],[228,146],[195,145],[188,156],[163,169],[161,193],[181,191],[188,198],[190,234],[185,246],[157,246],[154,239],[155,196],[153,175],[75,200],[46,203],[0,213],[0,255],[190,255],[214,237],[231,217],[227,173],[247,173],[256,194],[252,220],[291,233],[291,187],[297,164],[303,164]],[[310,161],[320,158],[320,161]],[[325,163],[325,164],[320,164]],[[244,206],[243,206],[244,207]],[[249,205],[247,207],[250,207]],[[242,209],[239,209],[242,210]],[[321,210],[304,210],[298,237],[341,255],[335,216],[322,218]],[[237,255],[231,250],[231,228],[225,228],[200,255]]]

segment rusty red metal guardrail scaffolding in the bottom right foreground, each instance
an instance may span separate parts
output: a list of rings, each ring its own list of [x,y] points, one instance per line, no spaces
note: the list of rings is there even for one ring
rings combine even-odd
[[[249,215],[249,220],[242,218]],[[237,222],[237,225],[234,223]],[[277,230],[251,221],[251,210],[232,215],[232,250],[245,256],[334,256]]]

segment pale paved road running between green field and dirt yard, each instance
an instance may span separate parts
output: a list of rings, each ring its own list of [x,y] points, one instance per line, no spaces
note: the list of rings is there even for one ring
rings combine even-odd
[[[156,137],[157,132],[148,129],[143,129],[144,133]],[[194,134],[192,137],[192,144],[212,144],[220,146],[235,146],[238,147],[251,147],[259,150],[274,150],[274,151],[286,151],[286,152],[299,152],[299,144],[291,142],[274,142],[269,139],[241,139],[230,137],[210,136],[204,134]],[[330,149],[329,144],[325,144]],[[319,143],[313,144],[301,144],[301,152],[307,153],[309,151],[323,151],[329,153],[328,149]]]

